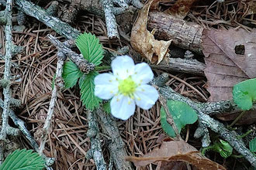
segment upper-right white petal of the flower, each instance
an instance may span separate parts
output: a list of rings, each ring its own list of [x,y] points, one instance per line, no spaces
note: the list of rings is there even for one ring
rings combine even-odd
[[[154,73],[147,63],[138,63],[135,65],[133,80],[136,83],[149,83],[151,80],[153,80],[153,78]]]

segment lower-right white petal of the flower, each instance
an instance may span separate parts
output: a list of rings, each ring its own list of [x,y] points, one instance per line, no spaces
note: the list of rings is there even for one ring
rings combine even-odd
[[[143,84],[140,87],[137,87],[134,96],[136,104],[140,108],[148,110],[156,103],[158,99],[158,92],[154,87]]]

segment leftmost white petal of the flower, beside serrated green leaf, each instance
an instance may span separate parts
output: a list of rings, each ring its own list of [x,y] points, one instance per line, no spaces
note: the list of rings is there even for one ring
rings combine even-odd
[[[118,82],[110,73],[101,73],[95,76],[95,96],[103,100],[109,100],[118,92]]]

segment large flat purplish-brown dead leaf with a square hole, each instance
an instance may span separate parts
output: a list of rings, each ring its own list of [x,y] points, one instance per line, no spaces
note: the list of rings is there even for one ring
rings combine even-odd
[[[230,100],[236,83],[256,77],[256,31],[204,30],[209,101]]]

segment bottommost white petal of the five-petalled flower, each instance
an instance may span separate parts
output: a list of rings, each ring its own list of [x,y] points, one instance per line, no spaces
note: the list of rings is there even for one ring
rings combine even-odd
[[[110,102],[111,114],[113,117],[126,121],[134,114],[135,102],[130,97],[117,95]]]

